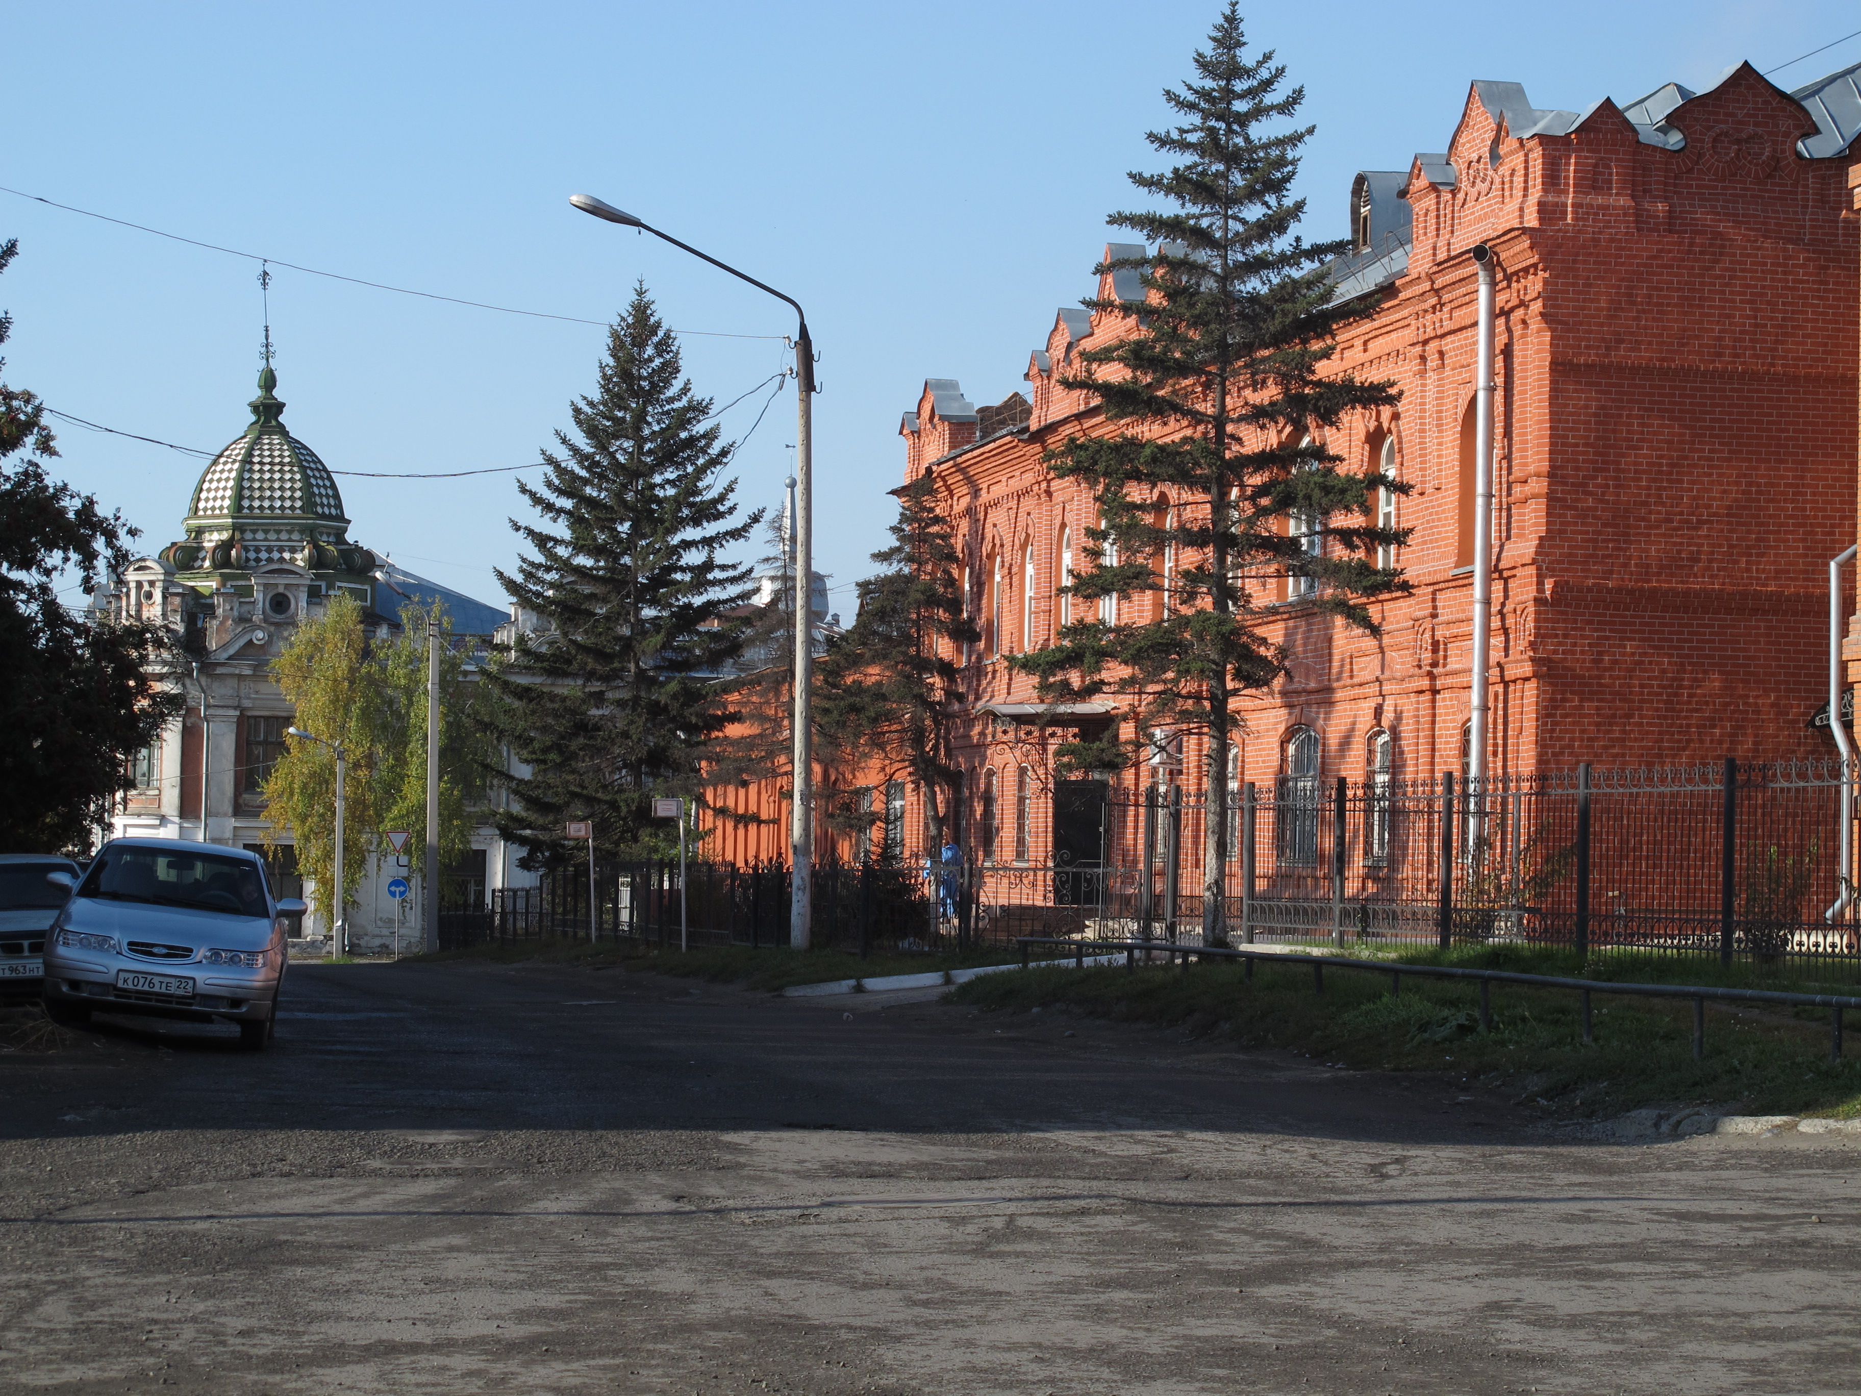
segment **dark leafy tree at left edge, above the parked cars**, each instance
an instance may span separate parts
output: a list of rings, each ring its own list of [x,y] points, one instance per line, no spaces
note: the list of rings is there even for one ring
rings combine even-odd
[[[17,240],[0,244],[0,272],[17,253]],[[11,329],[0,315],[0,342]],[[0,462],[20,450],[58,454],[45,404],[0,383]],[[167,631],[73,614],[60,601],[73,577],[91,592],[123,568],[136,536],[41,460],[0,463],[0,849],[89,847],[130,787],[128,759],[181,711],[181,694],[158,687],[173,659]]]

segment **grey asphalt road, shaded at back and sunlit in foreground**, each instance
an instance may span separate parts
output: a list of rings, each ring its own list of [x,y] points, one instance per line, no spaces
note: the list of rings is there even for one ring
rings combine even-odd
[[[1854,1392],[1855,1184],[1053,1014],[296,966],[262,1055],[0,1055],[0,1390]]]

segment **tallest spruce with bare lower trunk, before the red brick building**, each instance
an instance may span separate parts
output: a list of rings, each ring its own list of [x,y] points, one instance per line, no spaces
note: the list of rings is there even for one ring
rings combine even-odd
[[[1206,735],[1208,944],[1226,942],[1232,704],[1286,672],[1265,607],[1297,579],[1292,586],[1308,592],[1301,605],[1375,631],[1364,601],[1407,586],[1373,564],[1373,549],[1401,534],[1366,517],[1373,490],[1403,486],[1344,469],[1325,443],[1347,413],[1396,402],[1388,383],[1327,370],[1336,329],[1373,303],[1334,302],[1325,262],[1344,242],[1297,236],[1305,201],[1290,190],[1312,127],[1286,123],[1305,89],[1282,93],[1286,69],[1273,52],[1249,61],[1245,48],[1230,0],[1195,54],[1197,80],[1163,93],[1182,125],[1148,134],[1178,164],[1130,175],[1174,208],[1107,220],[1156,251],[1096,268],[1137,272],[1141,298],[1085,305],[1133,316],[1137,328],[1089,350],[1083,372],[1063,382],[1092,393],[1105,421],[1126,430],[1076,436],[1048,452],[1055,475],[1091,482],[1102,514],[1102,527],[1085,530],[1091,566],[1074,575],[1072,594],[1122,597],[1124,614],[1141,609],[1145,618],[1081,618],[1051,648],[1012,659],[1051,700],[1118,694],[1139,733]],[[1169,516],[1158,512],[1163,497]],[[1057,756],[1115,767],[1128,748],[1068,743]]]

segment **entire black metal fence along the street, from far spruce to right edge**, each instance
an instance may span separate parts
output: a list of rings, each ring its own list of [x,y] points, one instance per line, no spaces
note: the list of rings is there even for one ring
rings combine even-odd
[[[1230,942],[1558,946],[1664,951],[1861,975],[1839,901],[1837,763],[1591,771],[1489,780],[1241,785],[1226,808],[1219,923]],[[1068,799],[1074,799],[1068,795]],[[1098,856],[944,866],[930,851],[813,873],[813,944],[871,953],[1022,936],[1200,944],[1208,804],[1182,785],[1105,785]],[[1852,806],[1850,806],[1852,808]],[[1078,810],[1070,810],[1076,817]],[[1846,830],[1846,832],[1844,832]],[[441,914],[441,944],[545,936],[785,946],[782,866],[586,871]]]

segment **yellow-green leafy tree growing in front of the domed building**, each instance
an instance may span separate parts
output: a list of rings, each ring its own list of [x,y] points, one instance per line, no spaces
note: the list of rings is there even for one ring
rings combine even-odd
[[[272,676],[290,702],[294,724],[339,743],[342,782],[344,905],[387,854],[382,836],[408,830],[408,858],[426,871],[426,622],[439,616],[439,864],[471,847],[484,793],[484,769],[495,761],[486,728],[476,720],[480,685],[465,672],[443,607],[406,607],[395,638],[370,640],[361,605],[333,597],[320,616],[301,622],[272,661]],[[315,884],[313,901],[326,925],[335,921],[335,754],[315,741],[290,737],[264,785],[272,828],[268,843],[288,834],[298,867]]]

